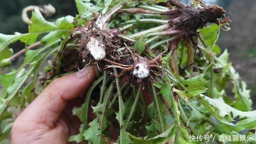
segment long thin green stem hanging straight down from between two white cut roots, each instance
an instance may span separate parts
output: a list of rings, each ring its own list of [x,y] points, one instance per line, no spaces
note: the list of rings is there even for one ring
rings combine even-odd
[[[115,75],[118,75],[118,72],[117,72],[117,69],[116,68],[113,68],[114,69],[114,73]],[[122,105],[123,105],[123,102],[122,102],[122,93],[121,93],[121,90],[120,90],[120,85],[119,85],[119,79],[116,78],[116,89],[117,89],[117,93],[118,93],[118,105],[119,105],[119,122],[120,122],[120,142],[119,144],[122,144],[122,139],[123,139],[123,114],[122,114]]]

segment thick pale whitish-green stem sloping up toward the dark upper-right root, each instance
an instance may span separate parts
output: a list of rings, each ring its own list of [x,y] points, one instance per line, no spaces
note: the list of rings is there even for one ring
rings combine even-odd
[[[136,34],[132,34],[128,37],[130,37],[131,39],[137,39],[137,38],[140,38],[148,33],[151,33],[151,32],[160,32],[162,30],[167,30],[168,28],[170,28],[170,25],[169,24],[164,24],[162,26],[158,26],[156,28],[151,28],[151,29],[148,29],[148,30],[145,30],[145,31],[142,31],[142,32],[138,32]]]

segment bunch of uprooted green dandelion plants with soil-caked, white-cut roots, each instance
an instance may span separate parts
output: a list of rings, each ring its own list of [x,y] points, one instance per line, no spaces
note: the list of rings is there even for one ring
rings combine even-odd
[[[48,22],[35,8],[27,34],[0,34],[0,140],[10,132],[12,107],[26,108],[53,79],[89,65],[98,78],[73,109],[82,124],[70,142],[183,144],[197,143],[189,135],[209,135],[219,143],[215,136],[254,135],[250,91],[228,52],[217,56],[218,33],[230,29],[223,8],[200,0],[75,2],[76,17]],[[26,47],[13,55],[16,41]],[[225,92],[230,81],[232,98]]]

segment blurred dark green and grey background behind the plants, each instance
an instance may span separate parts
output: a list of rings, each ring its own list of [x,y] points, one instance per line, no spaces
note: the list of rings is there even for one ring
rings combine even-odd
[[[192,0],[180,0],[189,4]],[[218,45],[230,52],[230,61],[240,73],[242,79],[252,90],[251,96],[256,102],[256,0],[203,0],[206,4],[218,4],[228,11],[227,16],[233,21],[232,30],[221,31]],[[26,33],[27,25],[22,22],[22,9],[29,5],[52,4],[56,14],[48,21],[61,16],[77,14],[74,0],[1,0],[0,33]],[[23,48],[21,43],[15,44],[14,52]],[[254,107],[255,108],[255,107]]]

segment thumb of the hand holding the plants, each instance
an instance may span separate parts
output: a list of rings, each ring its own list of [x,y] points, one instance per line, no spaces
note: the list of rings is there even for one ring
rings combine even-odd
[[[54,79],[44,91],[18,116],[17,120],[54,126],[67,101],[81,95],[96,78],[92,67]]]

